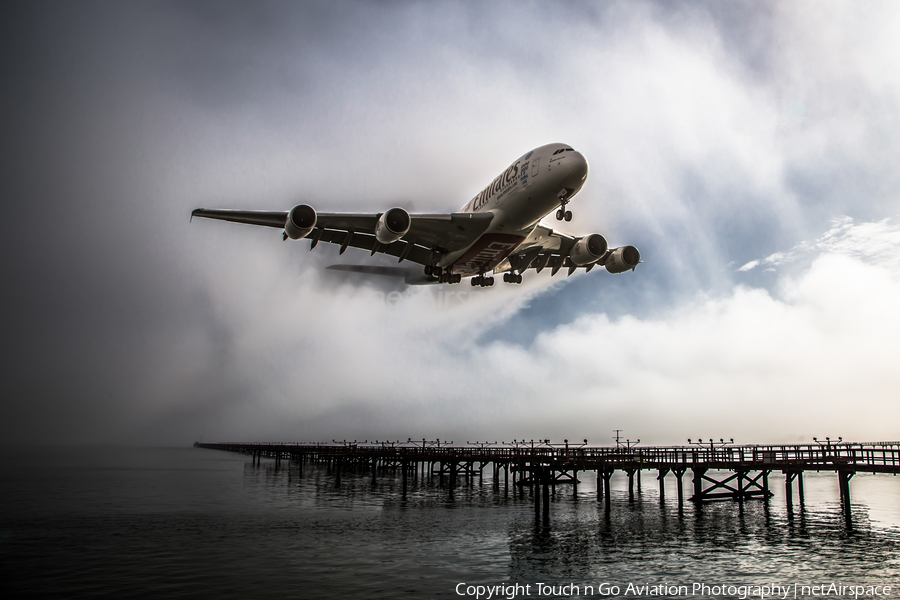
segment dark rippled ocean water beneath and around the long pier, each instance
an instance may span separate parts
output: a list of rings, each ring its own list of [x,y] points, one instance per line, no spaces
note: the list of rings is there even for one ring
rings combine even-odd
[[[661,500],[644,472],[630,502],[617,474],[609,512],[581,476],[545,520],[489,468],[451,494],[197,448],[6,449],[0,581],[16,598],[900,597],[898,477],[856,475],[848,523],[833,473],[791,511],[777,472],[769,501],[682,509],[671,475]]]

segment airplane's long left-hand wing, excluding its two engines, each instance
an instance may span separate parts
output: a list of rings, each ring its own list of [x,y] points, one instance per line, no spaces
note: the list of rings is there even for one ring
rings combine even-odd
[[[338,244],[343,253],[348,247],[381,252],[422,265],[433,264],[436,255],[467,247],[490,225],[490,213],[411,214],[410,227],[403,239],[378,244],[375,224],[382,213],[316,213],[316,226],[306,237],[310,249],[319,242]],[[193,217],[218,219],[284,229],[287,211],[249,211],[198,208]]]

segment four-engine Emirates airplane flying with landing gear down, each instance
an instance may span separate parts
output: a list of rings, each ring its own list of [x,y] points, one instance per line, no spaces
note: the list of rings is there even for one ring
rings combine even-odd
[[[274,227],[282,240],[309,239],[383,253],[424,266],[414,276],[401,267],[333,265],[329,268],[400,275],[411,284],[460,283],[494,285],[494,274],[506,283],[521,284],[528,269],[551,276],[567,268],[590,271],[595,265],[623,273],[641,263],[634,246],[610,249],[606,239],[592,233],[573,237],[554,231],[541,220],[556,209],[559,221],[571,221],[569,202],[584,186],[588,163],[566,144],[547,144],[515,160],[459,212],[410,214],[395,207],[381,213],[317,213],[308,204],[287,212],[198,208],[193,217]]]

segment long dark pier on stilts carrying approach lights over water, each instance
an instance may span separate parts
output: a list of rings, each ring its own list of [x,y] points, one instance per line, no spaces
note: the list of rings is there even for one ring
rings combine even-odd
[[[579,473],[597,478],[597,501],[610,508],[609,480],[616,471],[628,476],[629,498],[634,499],[635,484],[640,491],[641,473],[649,472],[658,481],[659,494],[665,497],[665,479],[671,475],[677,483],[678,505],[685,501],[684,475],[690,471],[691,496],[688,501],[715,500],[743,502],[752,498],[768,499],[770,475],[784,477],[785,500],[802,505],[803,475],[808,471],[833,471],[837,475],[841,504],[848,521],[851,517],[850,479],[859,472],[900,473],[900,442],[816,443],[797,445],[733,445],[709,442],[690,446],[613,446],[551,444],[548,440],[515,445],[441,446],[426,440],[407,443],[368,444],[341,442],[331,444],[224,442],[201,443],[195,447],[238,452],[263,458],[276,464],[291,461],[302,470],[304,463],[324,463],[337,482],[342,470],[371,472],[377,480],[380,472],[399,472],[404,484],[409,477],[438,476],[446,480],[450,493],[462,478],[483,477],[485,467],[493,469],[493,485],[503,492],[510,485],[530,487],[534,492],[535,512],[548,515],[549,495],[556,486],[570,484],[577,489]],[[724,472],[724,475],[723,475]],[[542,501],[543,500],[543,501]]]

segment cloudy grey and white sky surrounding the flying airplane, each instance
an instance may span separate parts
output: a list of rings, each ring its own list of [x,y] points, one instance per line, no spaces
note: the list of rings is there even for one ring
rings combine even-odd
[[[7,443],[900,439],[897,3],[0,15]],[[553,142],[547,223],[634,272],[405,287],[190,221],[454,211]]]

